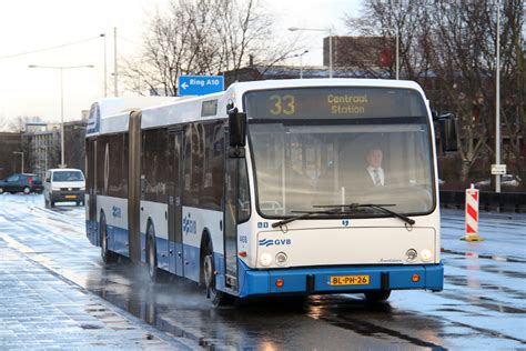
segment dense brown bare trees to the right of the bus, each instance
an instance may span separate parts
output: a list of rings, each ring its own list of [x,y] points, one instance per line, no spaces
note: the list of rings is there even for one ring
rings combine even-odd
[[[500,9],[500,113],[503,136],[509,138],[505,158],[513,159],[513,166],[524,176],[523,8],[524,0],[506,0]],[[495,152],[496,3],[370,0],[365,9],[360,19],[347,16],[346,24],[368,36],[393,37],[396,30],[401,77],[421,82],[436,109],[457,116],[459,176],[466,181],[475,162],[494,158]],[[370,71],[378,72],[378,68]]]

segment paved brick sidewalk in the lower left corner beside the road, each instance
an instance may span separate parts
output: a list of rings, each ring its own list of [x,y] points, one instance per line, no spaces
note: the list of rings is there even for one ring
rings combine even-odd
[[[184,350],[0,238],[0,350]]]

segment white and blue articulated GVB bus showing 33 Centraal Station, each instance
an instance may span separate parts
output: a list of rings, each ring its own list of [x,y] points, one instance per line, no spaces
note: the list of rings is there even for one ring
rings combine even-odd
[[[85,140],[87,235],[104,262],[127,257],[154,281],[160,270],[185,277],[214,304],[441,291],[434,140],[411,81],[255,81],[101,100]]]

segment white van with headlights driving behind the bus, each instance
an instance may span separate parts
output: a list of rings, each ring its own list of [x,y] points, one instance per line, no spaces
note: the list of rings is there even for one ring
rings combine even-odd
[[[45,172],[43,183],[47,208],[54,208],[57,202],[84,203],[85,180],[81,170],[74,168],[57,168]]]

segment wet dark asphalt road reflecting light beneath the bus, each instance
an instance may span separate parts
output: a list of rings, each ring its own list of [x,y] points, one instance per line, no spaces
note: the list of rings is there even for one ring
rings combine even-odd
[[[84,233],[84,209],[47,210],[41,195],[0,195],[0,239],[72,284],[208,349],[525,349],[526,215],[481,214],[482,243],[458,240],[463,213],[443,213],[445,289],[260,300],[213,309],[193,282],[153,285],[142,268],[104,267]]]

